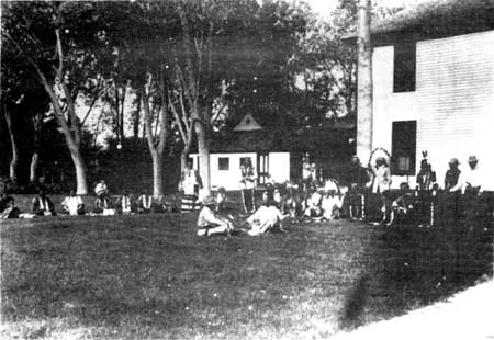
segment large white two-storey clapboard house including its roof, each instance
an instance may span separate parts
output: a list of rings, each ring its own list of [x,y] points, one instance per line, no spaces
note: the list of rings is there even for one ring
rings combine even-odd
[[[391,152],[393,186],[415,184],[422,151],[444,184],[475,155],[494,190],[494,0],[438,0],[372,26],[372,148]]]

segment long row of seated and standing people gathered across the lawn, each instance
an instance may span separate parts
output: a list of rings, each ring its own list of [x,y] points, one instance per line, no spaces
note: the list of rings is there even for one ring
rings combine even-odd
[[[440,191],[441,185],[437,181],[436,172],[425,155],[416,177],[415,190],[411,190],[407,183],[401,183],[400,190],[391,193],[391,171],[384,157],[378,157],[372,167],[366,168],[361,166],[359,158],[353,156],[341,179],[326,179],[324,182],[317,178],[315,163],[304,162],[300,183],[266,184],[261,191],[262,197],[256,200],[259,186],[251,162],[246,159],[240,167],[242,208],[244,213],[250,214],[245,224],[250,235],[263,234],[273,228],[283,230],[282,224],[288,217],[291,217],[292,222],[332,220],[341,217],[361,220],[374,218],[377,223],[386,225],[397,224],[404,219],[409,220],[413,217],[420,225],[431,225],[431,219],[436,216],[433,216],[435,208],[430,206],[430,202],[439,191],[444,203],[444,215],[449,214],[450,211],[458,212],[458,204],[461,204],[462,208],[468,208],[472,197],[482,192],[482,178],[478,163],[479,159],[470,156],[468,169],[461,171],[459,160],[452,158]],[[228,214],[226,191],[220,188],[214,196],[206,196],[199,201],[201,188],[199,174],[192,169],[192,163],[188,162],[179,184],[182,193],[180,209],[175,207],[172,202],[155,200],[148,193],[143,193],[135,199],[123,191],[116,200],[113,200],[105,182],[100,181],[94,188],[97,199],[92,209],[87,211],[82,197],[70,191],[61,202],[59,213],[116,215],[201,209],[198,218],[199,235],[233,231],[235,218]],[[461,200],[459,201],[458,197]],[[374,211],[379,213],[368,216],[372,205],[378,206]],[[24,214],[15,206],[13,197],[7,193],[2,193],[0,197],[0,218],[56,214],[55,206],[44,190],[41,190],[33,199],[31,212]],[[378,218],[375,218],[377,215]]]

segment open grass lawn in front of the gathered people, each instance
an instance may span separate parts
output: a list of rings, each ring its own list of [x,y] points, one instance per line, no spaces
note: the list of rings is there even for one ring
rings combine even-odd
[[[492,275],[492,225],[200,238],[194,218],[0,222],[1,338],[322,339]]]

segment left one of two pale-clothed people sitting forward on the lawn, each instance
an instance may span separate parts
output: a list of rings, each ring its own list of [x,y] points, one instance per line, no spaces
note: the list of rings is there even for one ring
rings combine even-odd
[[[214,213],[214,199],[205,196],[202,201],[202,208],[198,217],[198,236],[211,236],[217,234],[232,234],[234,227],[232,223]]]

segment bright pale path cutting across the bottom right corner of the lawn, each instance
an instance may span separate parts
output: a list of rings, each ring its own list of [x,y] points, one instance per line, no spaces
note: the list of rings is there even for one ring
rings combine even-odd
[[[494,339],[494,281],[407,315],[338,333],[332,339]]]

